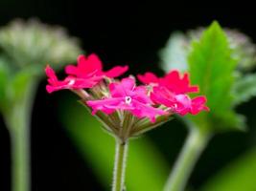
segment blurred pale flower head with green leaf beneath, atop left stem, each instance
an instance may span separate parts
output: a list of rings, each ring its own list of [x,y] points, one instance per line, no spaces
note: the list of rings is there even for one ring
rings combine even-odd
[[[37,20],[14,20],[1,28],[0,110],[3,115],[7,116],[14,105],[27,99],[26,95],[35,94],[34,85],[44,74],[47,63],[60,68],[61,64],[74,61],[79,53],[78,40],[60,27],[50,27]]]

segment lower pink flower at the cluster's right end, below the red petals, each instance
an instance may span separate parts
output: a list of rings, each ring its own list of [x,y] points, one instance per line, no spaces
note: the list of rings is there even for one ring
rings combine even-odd
[[[158,104],[163,104],[170,108],[171,112],[184,116],[188,113],[197,115],[200,111],[209,111],[205,106],[206,97],[197,96],[191,99],[184,94],[176,95],[163,86],[153,87],[151,100]]]

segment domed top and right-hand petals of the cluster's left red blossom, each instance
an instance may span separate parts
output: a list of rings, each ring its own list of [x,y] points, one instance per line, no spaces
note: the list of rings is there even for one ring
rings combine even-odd
[[[80,55],[78,57],[78,66],[68,65],[65,68],[66,74],[71,74],[77,77],[87,77],[88,75],[97,76],[107,76],[107,77],[117,77],[128,71],[128,66],[116,66],[107,72],[103,71],[103,63],[100,58],[92,53],[87,57],[85,55]]]

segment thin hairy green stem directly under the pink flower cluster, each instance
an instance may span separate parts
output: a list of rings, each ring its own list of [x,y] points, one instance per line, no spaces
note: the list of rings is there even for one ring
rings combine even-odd
[[[128,152],[128,142],[122,142],[117,139],[112,191],[125,190],[124,182],[125,182],[127,152]]]

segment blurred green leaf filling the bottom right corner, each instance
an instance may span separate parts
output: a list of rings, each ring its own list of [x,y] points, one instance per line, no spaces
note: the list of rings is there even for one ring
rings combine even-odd
[[[236,159],[208,180],[201,191],[255,191],[256,150]]]

